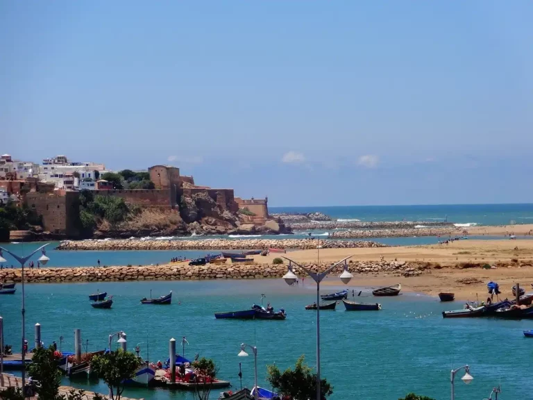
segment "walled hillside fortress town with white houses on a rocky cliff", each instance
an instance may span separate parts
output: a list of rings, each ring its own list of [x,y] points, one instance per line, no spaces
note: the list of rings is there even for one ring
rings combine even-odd
[[[87,191],[89,200],[89,195],[83,194]],[[180,174],[178,167],[170,165],[115,172],[102,163],[74,162],[63,155],[37,164],[3,154],[0,201],[25,208],[41,220],[41,226],[10,228],[11,240],[38,240],[39,236],[246,235],[286,229],[280,219],[269,217],[267,198],[242,199],[233,189],[197,185],[193,176]],[[111,218],[103,210],[87,223],[87,213],[94,214],[93,201],[115,202],[113,207],[121,208],[123,215]]]

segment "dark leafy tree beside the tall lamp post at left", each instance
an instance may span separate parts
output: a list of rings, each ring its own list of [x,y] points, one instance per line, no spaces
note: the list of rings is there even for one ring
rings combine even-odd
[[[49,349],[36,349],[28,365],[28,374],[34,381],[38,382],[36,387],[39,399],[59,400],[59,386],[61,384],[61,373],[53,358],[53,347]]]

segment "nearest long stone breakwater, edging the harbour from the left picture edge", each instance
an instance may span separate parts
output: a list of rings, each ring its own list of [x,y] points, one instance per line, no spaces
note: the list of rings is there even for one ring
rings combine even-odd
[[[323,271],[330,265],[321,264]],[[310,265],[316,272],[317,266]],[[332,275],[340,274],[343,267],[339,265]],[[405,263],[405,261],[369,261],[350,263],[350,271],[360,274],[376,274],[387,272],[398,276],[416,276],[422,274],[424,265]],[[283,264],[228,264],[189,266],[187,263],[178,265],[159,265],[145,267],[76,267],[76,268],[43,268],[26,269],[26,283],[69,283],[69,282],[115,282],[115,281],[191,281],[201,279],[258,279],[281,278],[287,272]],[[294,272],[304,276],[298,267]],[[21,281],[20,269],[1,269],[0,280]]]

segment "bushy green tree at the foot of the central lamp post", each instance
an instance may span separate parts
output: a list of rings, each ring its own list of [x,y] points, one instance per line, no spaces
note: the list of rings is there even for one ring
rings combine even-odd
[[[316,400],[316,374],[305,364],[305,356],[298,358],[294,370],[287,368],[283,373],[277,365],[267,365],[267,381],[280,394],[293,400]],[[320,381],[320,389],[322,399],[333,393],[333,387],[325,378]]]

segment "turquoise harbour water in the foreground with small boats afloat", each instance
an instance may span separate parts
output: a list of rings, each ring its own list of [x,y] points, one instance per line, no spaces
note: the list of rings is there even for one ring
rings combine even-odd
[[[340,287],[339,287],[340,288]],[[87,294],[106,290],[114,295],[110,310],[92,309]],[[174,290],[171,306],[142,306],[139,298]],[[336,290],[337,286],[328,288]],[[46,344],[65,336],[64,350],[72,350],[74,328],[81,328],[89,350],[103,349],[108,335],[119,330],[128,334],[128,347],[144,342],[150,360],[168,357],[168,341],[189,341],[185,356],[213,358],[220,378],[239,388],[239,362],[243,385],[253,385],[253,357],[238,358],[239,344],[257,344],[260,385],[266,385],[266,365],[276,362],[281,369],[294,365],[305,354],[315,364],[315,313],[303,307],[314,300],[316,287],[289,287],[282,280],[128,282],[26,285],[26,330],[33,340],[33,325],[42,324]],[[285,321],[232,321],[214,319],[217,311],[248,308],[267,295],[275,308],[283,307]],[[368,294],[364,292],[363,295]],[[366,297],[362,301],[373,302]],[[20,338],[21,292],[0,297],[6,342],[18,346]],[[178,304],[180,301],[180,304]],[[531,399],[533,340],[523,337],[532,322],[498,319],[442,319],[441,311],[461,308],[461,303],[439,303],[416,294],[378,299],[379,312],[346,313],[342,305],[321,313],[322,373],[335,388],[331,400],[398,399],[418,392],[448,399],[449,374],[469,364],[474,381],[464,385],[457,377],[457,399],[483,399],[501,381],[500,399]],[[518,368],[518,369],[517,369]],[[105,392],[98,383],[78,386]],[[128,397],[192,400],[192,394],[167,390],[128,390]],[[218,393],[212,393],[216,398]]]

